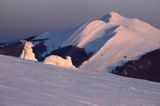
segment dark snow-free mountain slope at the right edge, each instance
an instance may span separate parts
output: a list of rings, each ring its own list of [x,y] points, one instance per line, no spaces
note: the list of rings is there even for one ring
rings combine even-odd
[[[113,73],[160,82],[160,49],[143,55],[139,60],[128,61],[113,70]]]

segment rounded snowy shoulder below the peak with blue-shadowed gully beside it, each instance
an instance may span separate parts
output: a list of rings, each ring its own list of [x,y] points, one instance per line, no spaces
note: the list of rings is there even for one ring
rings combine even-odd
[[[111,27],[101,20],[89,22],[75,31],[73,35],[64,42],[63,46],[74,45],[85,48],[87,52],[97,52],[103,44],[113,36],[115,28],[116,27]],[[105,36],[106,33],[107,36]]]

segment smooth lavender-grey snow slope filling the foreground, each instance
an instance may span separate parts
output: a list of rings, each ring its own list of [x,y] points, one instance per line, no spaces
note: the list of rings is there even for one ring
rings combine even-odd
[[[0,106],[160,106],[160,84],[0,55]]]

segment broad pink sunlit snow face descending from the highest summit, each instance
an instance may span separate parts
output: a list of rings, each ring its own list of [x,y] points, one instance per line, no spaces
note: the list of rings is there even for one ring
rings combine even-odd
[[[111,29],[117,28],[112,31],[114,34],[108,41],[101,39],[104,40],[103,46],[81,68],[109,72],[117,65],[160,48],[160,30],[143,21],[125,18],[117,13],[111,13],[109,19],[103,20]]]

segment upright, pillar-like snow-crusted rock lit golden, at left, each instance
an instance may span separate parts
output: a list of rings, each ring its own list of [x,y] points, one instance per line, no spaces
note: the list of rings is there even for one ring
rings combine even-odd
[[[22,43],[24,45],[24,49],[20,55],[20,58],[25,60],[37,61],[37,59],[35,58],[35,54],[33,53],[33,50],[32,50],[32,47],[33,47],[32,42],[22,40]]]

